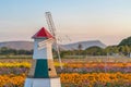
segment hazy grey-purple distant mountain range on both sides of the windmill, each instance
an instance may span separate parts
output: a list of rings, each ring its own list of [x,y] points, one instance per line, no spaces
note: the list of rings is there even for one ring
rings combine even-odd
[[[106,48],[106,45],[100,42],[99,40],[88,40],[88,41],[80,41],[80,42],[68,44],[68,45],[60,45],[60,49],[61,50],[74,50],[74,49],[78,49],[80,44],[82,46],[82,49],[86,49],[93,46]],[[32,50],[33,41],[4,41],[4,42],[0,42],[0,48],[1,47],[12,48],[16,50],[20,50],[20,49]]]

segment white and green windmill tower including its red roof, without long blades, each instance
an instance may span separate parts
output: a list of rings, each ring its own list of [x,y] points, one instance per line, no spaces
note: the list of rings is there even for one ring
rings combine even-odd
[[[33,64],[24,87],[61,87],[52,59],[53,36],[43,27],[33,39]]]

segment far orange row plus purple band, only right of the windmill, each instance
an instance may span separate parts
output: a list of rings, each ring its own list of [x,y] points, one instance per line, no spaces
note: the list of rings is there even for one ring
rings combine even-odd
[[[60,71],[60,73],[131,73],[131,63],[67,63],[64,64],[64,70]]]

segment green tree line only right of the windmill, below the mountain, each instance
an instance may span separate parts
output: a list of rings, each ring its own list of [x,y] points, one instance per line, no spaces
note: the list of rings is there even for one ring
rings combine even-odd
[[[107,48],[90,47],[85,50],[78,48],[78,50],[61,51],[61,57],[64,55],[129,55],[131,46],[108,46]]]

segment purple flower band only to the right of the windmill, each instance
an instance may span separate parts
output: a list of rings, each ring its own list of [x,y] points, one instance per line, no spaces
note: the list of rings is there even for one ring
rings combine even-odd
[[[131,73],[131,66],[129,67],[102,67],[102,66],[96,66],[96,67],[63,67],[61,70],[60,67],[56,67],[58,73],[102,73],[102,72],[107,72],[107,73],[116,73],[116,72],[121,72],[121,73]]]

